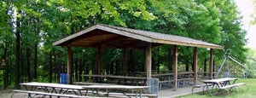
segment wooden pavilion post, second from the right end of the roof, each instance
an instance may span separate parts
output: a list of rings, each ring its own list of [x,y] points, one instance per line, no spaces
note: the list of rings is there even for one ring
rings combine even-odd
[[[194,84],[196,85],[197,84],[197,47],[195,47],[194,49],[194,56],[193,56],[193,61],[194,61],[194,64],[193,64],[193,67],[194,67]]]

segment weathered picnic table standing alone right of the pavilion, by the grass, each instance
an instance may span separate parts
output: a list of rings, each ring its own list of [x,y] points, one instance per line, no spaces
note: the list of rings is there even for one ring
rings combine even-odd
[[[235,84],[237,79],[238,78],[216,78],[216,79],[204,80],[203,83],[207,85],[207,90],[209,94],[212,95],[213,87],[216,87],[219,89],[226,85]],[[231,81],[233,81],[233,83],[230,83]],[[210,88],[210,86],[208,85],[211,85],[212,88]]]

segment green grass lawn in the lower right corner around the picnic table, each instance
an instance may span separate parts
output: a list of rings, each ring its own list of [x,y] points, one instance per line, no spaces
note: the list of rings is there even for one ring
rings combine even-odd
[[[246,83],[246,86],[242,85],[240,88],[231,91],[230,95],[213,95],[197,93],[194,95],[184,95],[179,98],[256,98],[256,78],[243,79],[239,78],[236,83]]]

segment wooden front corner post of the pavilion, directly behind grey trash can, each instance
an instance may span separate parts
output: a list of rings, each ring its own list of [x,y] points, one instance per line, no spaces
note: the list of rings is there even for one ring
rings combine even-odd
[[[151,43],[148,44],[148,47],[145,49],[145,69],[147,72],[147,78],[151,78]]]

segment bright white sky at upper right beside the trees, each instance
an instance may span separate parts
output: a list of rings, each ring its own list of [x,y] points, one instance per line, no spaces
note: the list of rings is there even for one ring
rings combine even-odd
[[[252,0],[235,0],[239,11],[241,12],[242,28],[247,31],[248,43],[247,47],[256,49],[256,25],[250,24],[253,18],[250,16],[253,13],[253,1]]]

